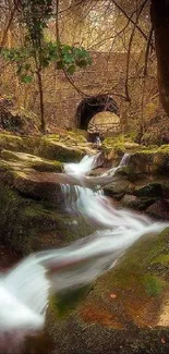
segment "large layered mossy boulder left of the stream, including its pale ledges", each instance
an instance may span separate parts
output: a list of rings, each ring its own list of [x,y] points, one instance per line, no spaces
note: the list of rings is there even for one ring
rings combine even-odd
[[[76,180],[49,172],[60,171],[61,162],[4,149],[1,157],[0,243],[29,254],[94,231],[81,216],[65,211],[61,184]]]

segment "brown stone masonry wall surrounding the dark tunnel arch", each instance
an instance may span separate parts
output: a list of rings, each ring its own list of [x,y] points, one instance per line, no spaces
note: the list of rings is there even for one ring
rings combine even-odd
[[[45,112],[47,124],[63,129],[79,127],[76,111],[79,105],[87,96],[110,94],[119,107],[119,113],[132,114],[137,110],[138,99],[141,97],[141,86],[137,80],[137,88],[130,80],[131,90],[134,89],[134,99],[132,105],[128,105],[120,96],[124,91],[126,53],[122,52],[93,52],[93,64],[86,69],[79,70],[71,76],[77,91],[68,81],[62,71],[51,68],[44,77],[45,88]],[[134,61],[133,61],[134,63]],[[132,63],[131,63],[132,64]],[[130,76],[134,77],[135,66],[131,65]],[[134,78],[133,78],[134,80]],[[133,87],[133,88],[132,88]],[[147,91],[156,90],[156,78],[150,78],[147,85]],[[137,93],[136,93],[137,90]],[[113,96],[113,93],[116,95]],[[38,112],[38,95],[35,95],[31,107]],[[130,110],[130,113],[126,111]],[[125,117],[124,117],[125,120]]]

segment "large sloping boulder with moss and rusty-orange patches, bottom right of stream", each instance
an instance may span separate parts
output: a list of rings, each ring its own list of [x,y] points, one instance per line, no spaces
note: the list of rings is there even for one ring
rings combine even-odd
[[[53,354],[168,353],[168,237],[169,229],[142,237],[64,316],[58,317],[60,302],[51,300],[47,331]]]

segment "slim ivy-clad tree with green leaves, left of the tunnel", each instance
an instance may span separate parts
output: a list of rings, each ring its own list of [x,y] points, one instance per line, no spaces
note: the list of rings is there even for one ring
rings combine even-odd
[[[63,69],[69,74],[73,74],[76,66],[86,66],[90,64],[92,60],[89,53],[84,48],[62,45],[59,37],[56,42],[45,40],[44,32],[53,14],[52,0],[19,0],[16,9],[19,21],[23,24],[25,30],[24,45],[17,48],[4,48],[1,50],[1,56],[16,64],[16,73],[25,84],[31,83],[34,75],[37,77],[41,120],[40,130],[41,133],[45,133],[44,70],[51,62],[56,62],[57,69]]]

